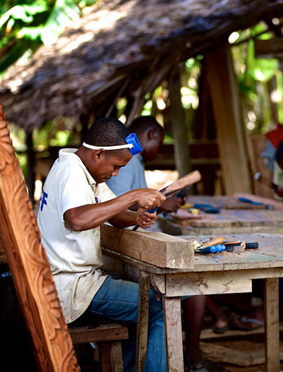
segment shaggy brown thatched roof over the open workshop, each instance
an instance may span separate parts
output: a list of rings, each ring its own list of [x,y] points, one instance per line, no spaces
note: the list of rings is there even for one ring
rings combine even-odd
[[[104,115],[125,92],[138,106],[179,61],[279,17],[282,1],[100,1],[51,47],[10,68],[0,88],[6,118],[31,131],[56,116]]]

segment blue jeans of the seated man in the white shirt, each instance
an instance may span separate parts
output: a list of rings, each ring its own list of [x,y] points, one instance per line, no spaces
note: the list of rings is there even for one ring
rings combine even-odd
[[[166,349],[162,300],[150,289],[147,358],[144,372],[166,372]],[[138,284],[109,276],[95,294],[88,312],[128,322],[129,339],[122,342],[124,371],[135,371]]]

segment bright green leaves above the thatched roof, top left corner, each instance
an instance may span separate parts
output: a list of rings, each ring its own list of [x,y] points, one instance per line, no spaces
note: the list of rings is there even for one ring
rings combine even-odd
[[[42,45],[50,45],[67,25],[80,16],[80,7],[96,0],[4,0],[0,8],[0,74],[29,58]]]

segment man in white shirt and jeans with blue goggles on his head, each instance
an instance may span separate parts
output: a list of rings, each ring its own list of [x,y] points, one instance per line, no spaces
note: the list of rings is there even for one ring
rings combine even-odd
[[[42,190],[37,222],[66,323],[83,313],[125,320],[136,327],[138,284],[104,272],[100,225],[139,224],[148,228],[165,200],[162,193],[138,188],[116,197],[105,182],[140,152],[138,138],[121,121],[107,118],[92,124],[83,145],[63,149]],[[140,208],[128,208],[137,204]],[[144,371],[165,372],[166,353],[162,301],[150,290],[150,321]],[[124,371],[134,371],[135,331],[123,345]]]

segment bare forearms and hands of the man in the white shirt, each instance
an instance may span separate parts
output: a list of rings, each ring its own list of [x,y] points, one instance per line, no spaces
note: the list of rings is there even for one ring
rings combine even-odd
[[[82,205],[66,210],[64,219],[74,231],[83,231],[99,227],[109,221],[115,227],[128,227],[138,223],[140,227],[150,227],[156,220],[156,213],[145,210],[158,207],[165,197],[157,190],[139,188],[104,203]],[[127,210],[137,203],[138,212]]]

